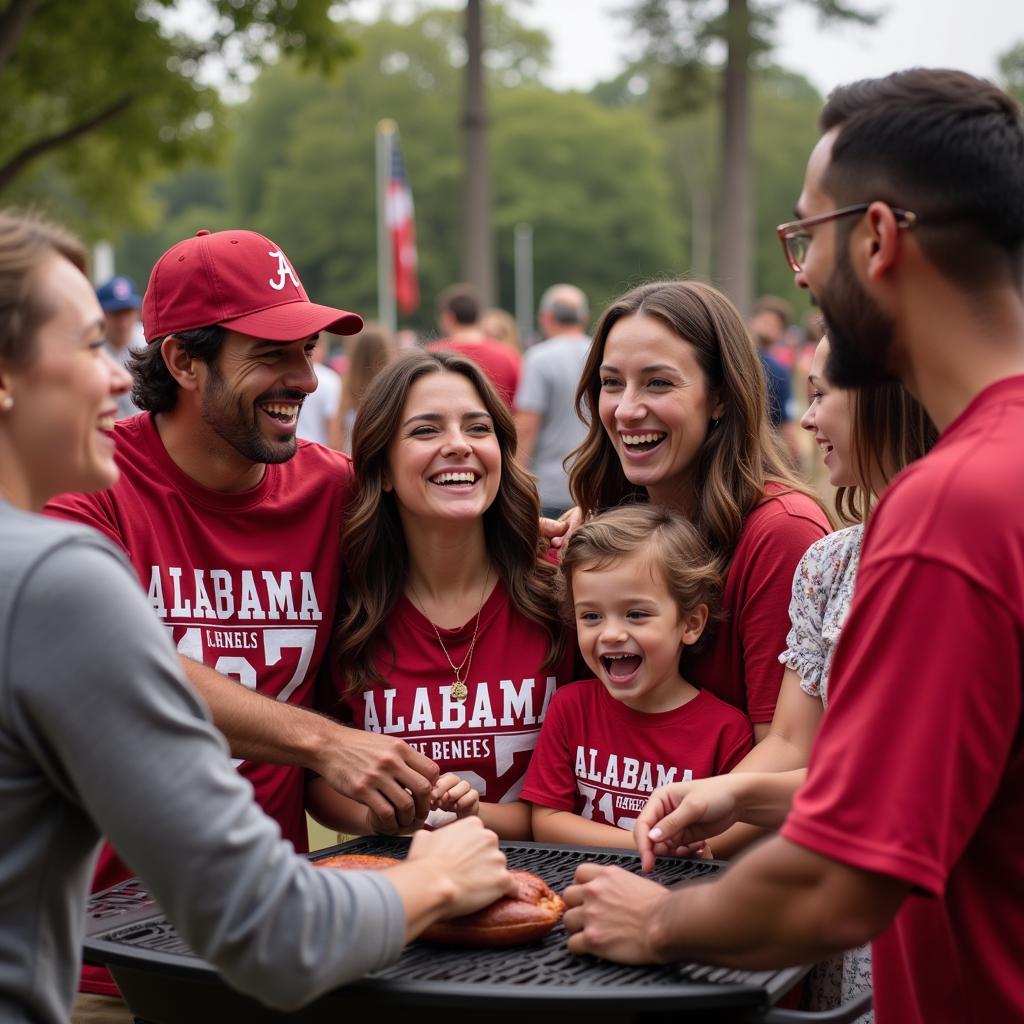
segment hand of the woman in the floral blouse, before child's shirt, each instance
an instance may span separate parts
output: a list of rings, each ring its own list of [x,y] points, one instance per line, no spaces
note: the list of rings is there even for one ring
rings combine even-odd
[[[717,775],[658,786],[633,829],[643,869],[652,871],[655,857],[699,855],[702,840],[735,824],[742,781],[741,775]]]

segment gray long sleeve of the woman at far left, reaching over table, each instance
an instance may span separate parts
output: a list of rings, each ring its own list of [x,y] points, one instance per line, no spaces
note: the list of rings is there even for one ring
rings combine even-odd
[[[294,1009],[397,958],[394,887],[295,855],[103,542],[62,545],[38,564],[11,654],[12,710],[44,771],[232,985]]]

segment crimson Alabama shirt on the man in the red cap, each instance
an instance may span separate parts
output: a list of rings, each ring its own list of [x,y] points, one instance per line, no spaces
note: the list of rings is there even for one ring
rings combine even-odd
[[[267,696],[311,706],[337,604],[348,457],[300,440],[257,486],[223,494],[177,467],[150,414],[120,420],[114,436],[118,482],[62,495],[45,511],[93,526],[125,551],[180,653]],[[285,838],[306,850],[303,769],[243,761],[239,770]],[[93,891],[130,876],[106,846]],[[85,972],[105,977],[100,968]],[[109,980],[83,987],[117,992]]]

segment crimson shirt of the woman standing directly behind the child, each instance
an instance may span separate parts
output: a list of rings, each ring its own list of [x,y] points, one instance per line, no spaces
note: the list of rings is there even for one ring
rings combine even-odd
[[[684,657],[683,675],[752,722],[770,722],[782,685],[779,651],[790,632],[793,575],[804,552],[829,531],[820,506],[800,493],[769,497],[743,523],[722,594],[723,620],[707,648]]]

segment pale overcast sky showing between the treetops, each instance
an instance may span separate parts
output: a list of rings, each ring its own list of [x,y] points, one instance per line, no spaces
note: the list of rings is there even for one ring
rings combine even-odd
[[[437,0],[453,7],[460,0]],[[1024,0],[857,0],[867,10],[887,13],[872,29],[856,26],[821,30],[807,5],[791,2],[776,40],[778,63],[807,76],[822,93],[858,78],[901,68],[961,68],[986,78],[996,75],[996,58],[1024,42]],[[389,4],[400,11],[401,0]],[[628,22],[613,12],[624,0],[519,0],[523,22],[547,30],[554,69],[549,85],[589,89],[613,77],[630,54]],[[349,9],[369,14],[380,0],[354,0]]]

